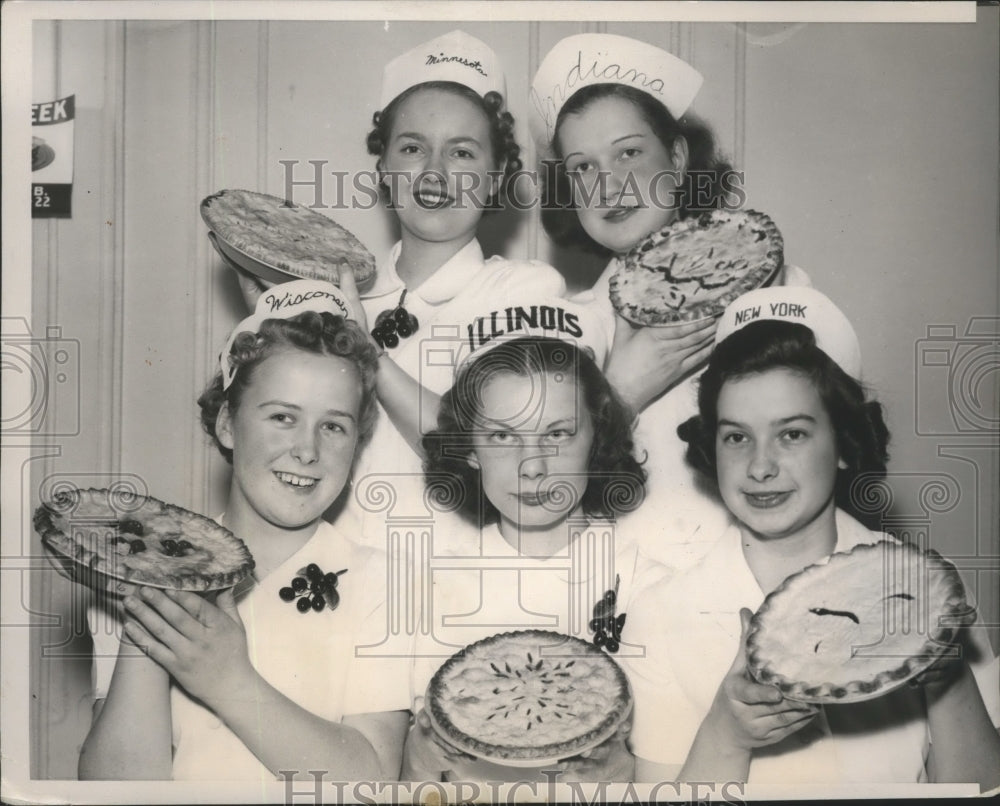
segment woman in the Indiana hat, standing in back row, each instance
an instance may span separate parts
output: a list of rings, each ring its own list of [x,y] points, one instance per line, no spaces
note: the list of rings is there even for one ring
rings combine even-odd
[[[546,229],[558,243],[612,257],[577,299],[602,312],[609,341],[613,334],[605,372],[641,413],[636,440],[649,452],[653,503],[646,512],[655,514],[646,524],[646,548],[676,566],[696,559],[727,523],[725,510],[685,467],[682,445],[663,436],[694,413],[693,373],[708,358],[715,322],[636,327],[615,314],[608,280],[616,255],[689,212],[715,207],[726,190],[722,177],[729,166],[717,157],[711,133],[685,117],[701,83],[693,67],[660,48],[623,36],[580,34],[545,57],[529,105],[533,135],[556,160],[555,181],[546,189]],[[603,191],[590,205],[574,199],[568,174],[578,180],[574,187],[586,188],[603,174],[605,195],[627,201],[609,209]],[[706,185],[706,179],[712,181]],[[625,182],[638,198],[622,192]],[[808,278],[786,266],[775,283],[804,285]]]

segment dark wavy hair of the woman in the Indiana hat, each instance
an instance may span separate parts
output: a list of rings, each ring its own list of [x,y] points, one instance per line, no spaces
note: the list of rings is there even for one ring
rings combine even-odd
[[[612,254],[611,250],[591,238],[580,224],[559,140],[562,124],[567,117],[580,114],[602,98],[620,98],[635,106],[668,153],[678,137],[683,137],[687,142],[687,175],[681,188],[678,218],[684,219],[696,213],[714,210],[722,205],[728,193],[737,192],[735,188],[727,187],[723,181],[724,176],[732,174],[733,167],[718,154],[715,135],[705,123],[693,115],[685,115],[677,120],[656,98],[635,87],[624,84],[590,84],[573,93],[559,110],[552,138],[552,150],[556,159],[547,162],[542,172],[542,226],[556,244],[579,246],[602,256]],[[742,190],[739,190],[738,195],[742,199],[741,194]]]

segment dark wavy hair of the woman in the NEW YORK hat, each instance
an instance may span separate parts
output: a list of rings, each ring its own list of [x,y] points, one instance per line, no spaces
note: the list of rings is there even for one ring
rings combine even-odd
[[[837,473],[836,504],[862,522],[870,522],[871,513],[855,506],[852,499],[858,493],[852,494],[852,486],[862,474],[871,479],[885,476],[889,429],[882,405],[866,401],[864,386],[816,346],[815,335],[805,325],[752,322],[716,346],[698,382],[698,414],[677,428],[687,443],[688,463],[717,483],[715,443],[722,387],[726,381],[772,369],[791,370],[812,382],[833,424],[837,451],[847,465]]]

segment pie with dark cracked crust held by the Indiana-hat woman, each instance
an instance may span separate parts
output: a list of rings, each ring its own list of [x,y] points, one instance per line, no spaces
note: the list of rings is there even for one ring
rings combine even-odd
[[[625,255],[611,276],[611,303],[640,325],[718,316],[774,277],[784,262],[783,248],[781,233],[763,213],[695,215],[654,232]]]

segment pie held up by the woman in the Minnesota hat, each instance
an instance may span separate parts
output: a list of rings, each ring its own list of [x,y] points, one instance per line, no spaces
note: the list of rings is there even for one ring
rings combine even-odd
[[[337,285],[341,268],[358,286],[375,277],[375,258],[337,222],[308,207],[250,190],[220,190],[201,203],[216,247],[265,280],[289,275]]]

